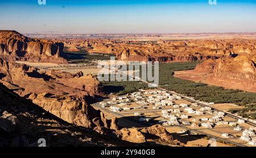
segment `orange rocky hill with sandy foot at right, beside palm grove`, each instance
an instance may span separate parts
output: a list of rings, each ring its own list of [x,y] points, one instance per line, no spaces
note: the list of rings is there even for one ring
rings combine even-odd
[[[175,76],[215,86],[256,92],[256,58],[253,55],[208,59],[195,70],[177,71]]]

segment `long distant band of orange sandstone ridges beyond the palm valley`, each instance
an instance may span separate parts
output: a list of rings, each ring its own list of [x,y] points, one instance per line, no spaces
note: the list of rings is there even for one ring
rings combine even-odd
[[[79,46],[88,53],[115,54],[130,61],[204,61],[236,54],[255,54],[255,40],[130,41],[126,39],[55,39],[67,50]]]

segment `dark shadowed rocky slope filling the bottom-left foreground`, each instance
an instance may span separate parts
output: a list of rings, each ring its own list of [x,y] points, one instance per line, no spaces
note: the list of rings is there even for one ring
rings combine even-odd
[[[40,138],[49,147],[139,145],[64,122],[0,83],[0,147],[37,147]]]

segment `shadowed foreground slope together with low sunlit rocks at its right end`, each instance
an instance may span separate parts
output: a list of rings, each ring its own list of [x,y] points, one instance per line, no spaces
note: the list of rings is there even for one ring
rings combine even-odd
[[[130,134],[125,131],[137,132]],[[37,147],[41,138],[49,147],[184,145],[174,140],[164,127],[105,129],[100,134],[92,128],[67,123],[0,83],[0,147]]]

